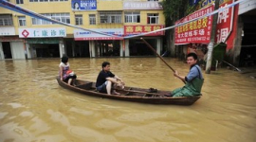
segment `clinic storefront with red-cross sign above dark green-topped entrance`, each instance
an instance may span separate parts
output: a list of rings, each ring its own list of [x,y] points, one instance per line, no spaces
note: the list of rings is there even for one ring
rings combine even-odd
[[[66,53],[64,27],[52,28],[19,28],[19,37],[26,38],[28,59],[60,58]]]

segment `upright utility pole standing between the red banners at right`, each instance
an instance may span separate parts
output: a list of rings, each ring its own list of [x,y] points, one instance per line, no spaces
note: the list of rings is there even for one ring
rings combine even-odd
[[[219,9],[219,1],[215,0],[214,10]],[[208,57],[207,57],[207,64],[206,64],[206,74],[210,74],[210,67],[212,61],[212,52],[213,46],[215,42],[215,35],[216,35],[216,28],[217,28],[217,20],[218,20],[218,13],[213,15],[212,26],[211,26],[211,35],[210,35],[210,44],[208,44]]]

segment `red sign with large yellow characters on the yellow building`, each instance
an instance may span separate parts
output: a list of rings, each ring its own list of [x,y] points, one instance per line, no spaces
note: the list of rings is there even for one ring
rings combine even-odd
[[[124,26],[124,35],[136,35],[136,34],[141,34],[145,32],[150,32],[154,31],[157,29],[161,29],[164,26]],[[145,36],[157,36],[157,35],[164,35],[164,31],[158,31],[155,33],[151,33]]]

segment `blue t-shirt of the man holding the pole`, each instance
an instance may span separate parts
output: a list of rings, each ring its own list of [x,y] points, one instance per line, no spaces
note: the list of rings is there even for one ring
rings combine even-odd
[[[194,78],[203,79],[201,68],[197,64],[192,66],[189,74],[185,77],[185,80],[192,81]]]

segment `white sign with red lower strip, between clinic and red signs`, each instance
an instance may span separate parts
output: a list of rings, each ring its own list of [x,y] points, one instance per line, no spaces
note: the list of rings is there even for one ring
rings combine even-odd
[[[91,41],[91,40],[122,40],[123,28],[91,28],[97,32],[106,33],[113,36],[102,35],[82,29],[74,29],[75,41]]]

